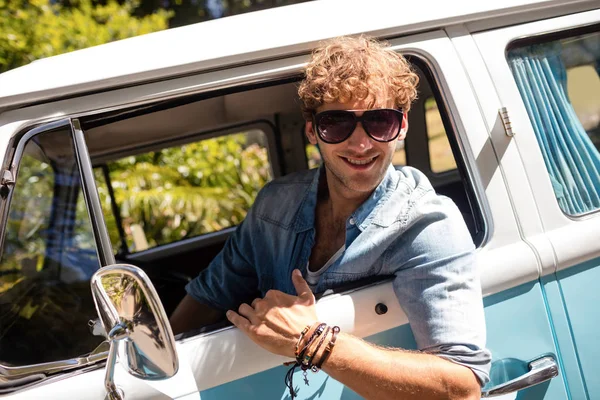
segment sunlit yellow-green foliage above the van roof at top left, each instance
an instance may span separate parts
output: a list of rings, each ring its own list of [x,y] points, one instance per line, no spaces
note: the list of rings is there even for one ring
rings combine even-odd
[[[0,0],[0,72],[31,61],[166,29],[172,11],[134,17],[137,3]],[[85,66],[82,66],[85,68]]]

